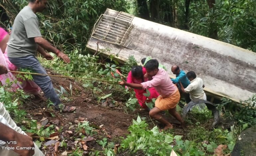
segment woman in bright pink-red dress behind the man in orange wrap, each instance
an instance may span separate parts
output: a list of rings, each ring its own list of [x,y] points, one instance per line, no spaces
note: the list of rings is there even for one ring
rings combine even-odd
[[[142,82],[148,81],[148,78],[144,78],[144,75],[146,74],[146,69],[142,66],[133,66],[131,71],[128,73],[127,76],[127,82],[128,83],[137,83],[141,84]],[[152,98],[157,98],[159,96],[159,93],[155,90],[154,87],[148,88],[150,92],[150,96],[146,97],[143,94],[147,93],[146,90],[143,89],[133,89],[135,92],[135,96],[142,108],[144,108],[147,111],[150,111],[150,109],[146,106],[145,102],[150,102]],[[148,99],[148,100],[147,100]]]

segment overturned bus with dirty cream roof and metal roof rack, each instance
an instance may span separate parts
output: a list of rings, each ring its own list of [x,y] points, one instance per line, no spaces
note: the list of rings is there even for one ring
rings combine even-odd
[[[130,55],[137,62],[151,56],[172,78],[174,64],[185,72],[193,70],[203,79],[211,102],[221,97],[239,102],[256,93],[255,52],[124,12],[107,9],[95,23],[86,47],[93,52],[111,49],[103,54],[118,54],[119,61],[126,61]]]

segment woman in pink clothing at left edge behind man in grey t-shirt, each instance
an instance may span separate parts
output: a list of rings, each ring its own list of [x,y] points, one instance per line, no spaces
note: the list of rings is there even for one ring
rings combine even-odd
[[[0,64],[4,65],[7,70],[12,70],[15,71],[17,70],[17,67],[12,64],[7,56],[7,42],[9,40],[10,35],[0,27]],[[0,81],[2,85],[6,84],[6,79],[9,80],[9,82],[13,82],[11,87],[12,90],[15,91],[16,89],[20,88],[23,89],[25,93],[29,93],[35,96],[35,101],[39,102],[43,100],[42,95],[40,95],[40,87],[32,80],[22,80],[21,78],[18,78],[18,81],[21,83],[17,82],[14,83],[16,78],[13,75],[13,73],[8,72],[7,74],[2,74],[0,75]]]

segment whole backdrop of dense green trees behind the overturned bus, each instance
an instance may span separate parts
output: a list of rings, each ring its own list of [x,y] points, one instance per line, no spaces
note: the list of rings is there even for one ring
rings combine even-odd
[[[0,1],[0,25],[10,27],[28,0]],[[256,0],[52,0],[40,14],[43,35],[56,44],[87,42],[106,8],[228,42],[256,52]],[[50,30],[50,31],[49,31]]]

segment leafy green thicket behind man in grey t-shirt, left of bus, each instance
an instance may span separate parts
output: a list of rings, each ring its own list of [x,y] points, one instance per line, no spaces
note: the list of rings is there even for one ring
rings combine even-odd
[[[97,18],[107,8],[126,11],[126,0],[51,0],[49,8],[38,13],[41,33],[55,45],[76,44],[84,47]],[[28,4],[27,0],[0,1],[10,20],[6,27],[11,27],[18,12]]]

